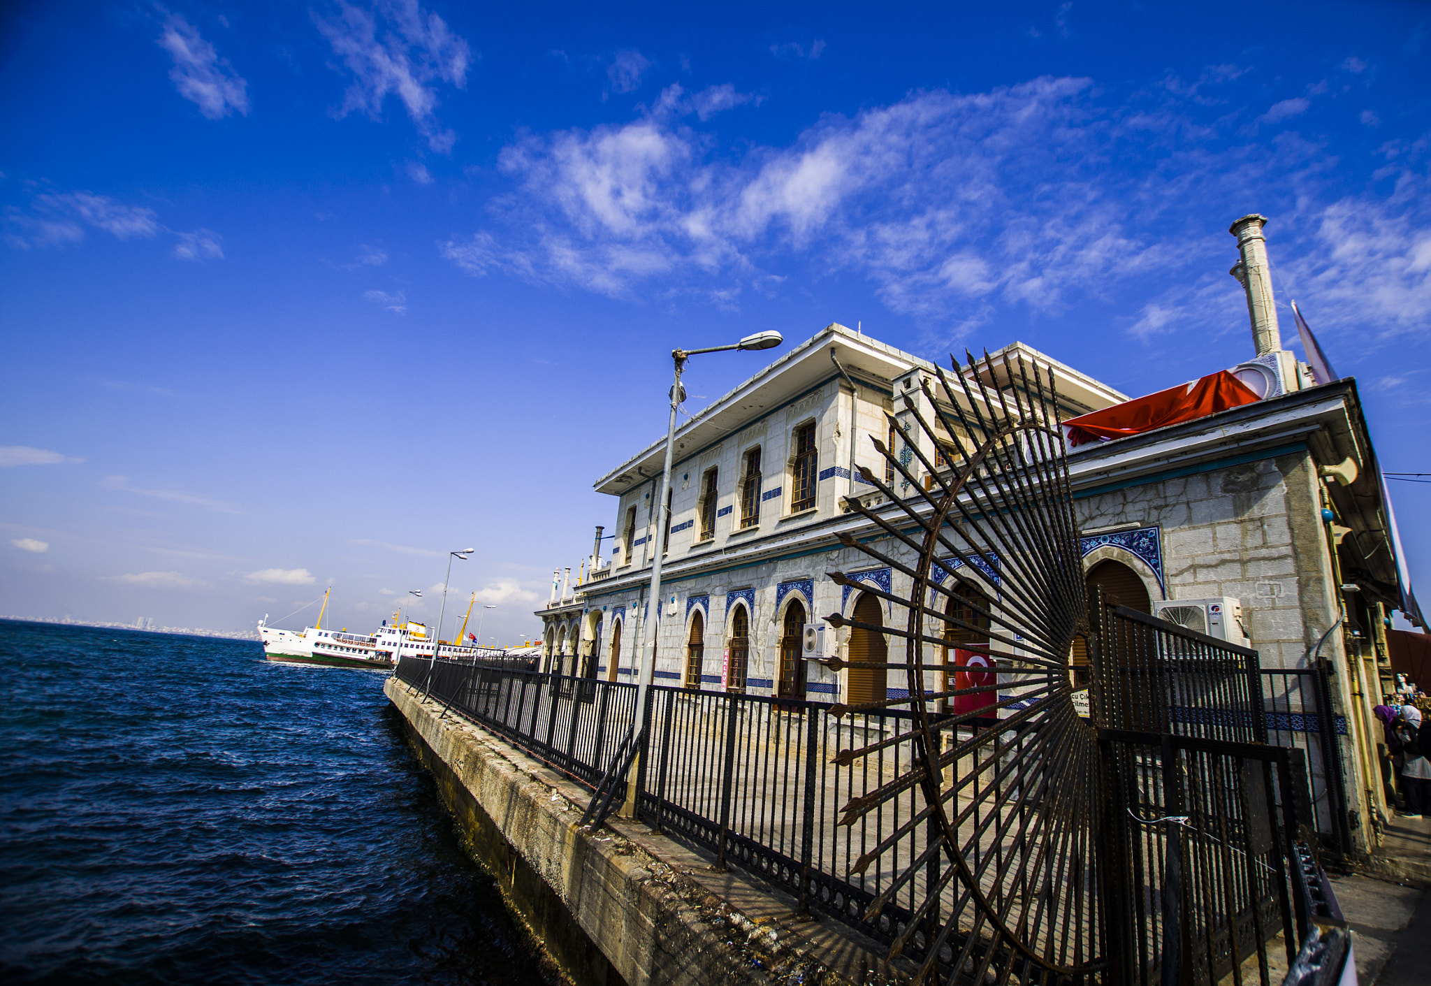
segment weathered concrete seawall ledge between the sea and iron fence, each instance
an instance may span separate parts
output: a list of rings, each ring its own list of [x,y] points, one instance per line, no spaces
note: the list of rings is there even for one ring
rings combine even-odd
[[[392,677],[384,685],[472,856],[580,985],[909,982],[914,966],[634,820],[578,827],[591,794]]]

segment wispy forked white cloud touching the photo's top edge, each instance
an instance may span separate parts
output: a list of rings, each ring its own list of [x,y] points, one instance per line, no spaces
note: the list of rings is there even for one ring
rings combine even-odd
[[[456,135],[438,126],[435,83],[467,87],[472,60],[468,43],[441,17],[424,11],[418,0],[379,0],[372,11],[345,0],[338,0],[336,7],[335,17],[315,13],[313,21],[353,79],[338,114],[356,110],[378,119],[384,102],[395,94],[428,146],[451,150]]]

